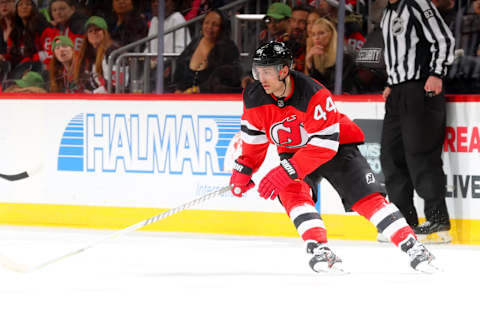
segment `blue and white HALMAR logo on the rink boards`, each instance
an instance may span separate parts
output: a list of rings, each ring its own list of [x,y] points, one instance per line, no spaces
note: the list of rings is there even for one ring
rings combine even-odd
[[[230,175],[240,116],[80,113],[67,124],[59,171]]]

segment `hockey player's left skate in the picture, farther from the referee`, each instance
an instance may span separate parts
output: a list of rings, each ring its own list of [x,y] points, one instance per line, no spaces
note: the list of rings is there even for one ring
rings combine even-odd
[[[309,262],[313,271],[319,273],[345,273],[341,267],[342,259],[333,253],[326,243],[308,242],[307,253],[313,255]]]

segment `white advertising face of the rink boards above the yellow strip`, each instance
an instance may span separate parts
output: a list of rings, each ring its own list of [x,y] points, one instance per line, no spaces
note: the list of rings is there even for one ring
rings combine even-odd
[[[360,151],[383,183],[379,97],[344,96],[337,108],[365,132]],[[444,145],[447,204],[454,219],[480,219],[479,102],[448,104]],[[31,178],[0,181],[0,203],[172,208],[228,184],[241,151],[242,101],[232,99],[119,96],[91,99],[2,99],[0,173],[37,168]],[[278,165],[273,146],[257,183]],[[416,205],[422,213],[422,201]],[[317,203],[325,215],[352,216],[328,182]],[[285,215],[278,201],[256,189],[242,199],[228,194],[199,205],[216,212]],[[5,212],[6,212],[5,211]],[[51,212],[51,210],[49,211]],[[11,220],[8,220],[11,221]],[[2,221],[0,221],[2,223]],[[87,224],[88,226],[88,224]]]

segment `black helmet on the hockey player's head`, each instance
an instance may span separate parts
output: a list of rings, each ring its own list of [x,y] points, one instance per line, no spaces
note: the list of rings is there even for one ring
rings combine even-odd
[[[258,80],[257,66],[277,66],[277,71],[280,71],[283,66],[291,69],[292,64],[293,56],[285,43],[271,41],[255,50],[252,59],[252,74],[255,80]]]

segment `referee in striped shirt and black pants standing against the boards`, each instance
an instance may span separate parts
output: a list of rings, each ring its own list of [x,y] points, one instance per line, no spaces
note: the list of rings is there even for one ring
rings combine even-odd
[[[420,240],[450,242],[441,158],[446,125],[442,78],[454,60],[455,40],[431,0],[389,0],[380,27],[388,75],[381,141],[387,193]],[[425,201],[421,225],[414,190]]]

